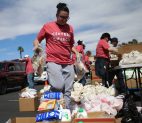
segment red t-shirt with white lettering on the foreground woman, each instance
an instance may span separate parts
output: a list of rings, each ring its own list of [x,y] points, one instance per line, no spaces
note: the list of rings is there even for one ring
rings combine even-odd
[[[72,64],[72,47],[74,44],[73,28],[58,25],[56,22],[46,23],[40,30],[37,39],[41,42],[46,39],[47,62],[57,64]]]

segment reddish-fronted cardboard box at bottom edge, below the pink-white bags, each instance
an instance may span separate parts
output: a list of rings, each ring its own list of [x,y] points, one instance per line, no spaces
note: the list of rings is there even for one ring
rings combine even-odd
[[[110,118],[105,112],[90,112],[88,118],[75,118],[74,123],[116,123],[115,118]]]

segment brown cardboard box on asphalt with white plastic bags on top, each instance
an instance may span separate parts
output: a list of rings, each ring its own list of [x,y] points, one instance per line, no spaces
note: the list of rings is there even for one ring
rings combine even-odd
[[[38,98],[19,98],[19,111],[37,111]]]

